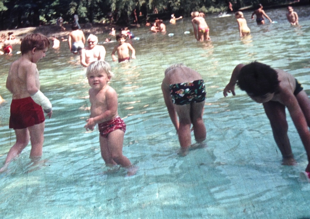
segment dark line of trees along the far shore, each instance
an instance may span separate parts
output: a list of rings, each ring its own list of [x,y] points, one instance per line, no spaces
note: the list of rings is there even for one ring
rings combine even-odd
[[[294,0],[231,0],[234,10],[258,3],[268,6],[292,1]],[[0,0],[0,29],[55,24],[60,16],[71,22],[74,14],[79,16],[80,23],[112,20],[119,24],[129,24],[135,22],[135,9],[137,16],[144,19],[153,14],[155,8],[159,14],[174,12],[178,16],[188,16],[191,11],[227,11],[228,2],[229,0]],[[140,12],[142,16],[139,16]]]

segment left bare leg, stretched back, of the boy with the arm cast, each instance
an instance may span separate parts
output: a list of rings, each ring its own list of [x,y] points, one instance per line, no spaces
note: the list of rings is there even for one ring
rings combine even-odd
[[[29,143],[30,136],[27,128],[15,129],[14,131],[16,136],[16,143],[11,147],[11,149],[7,153],[7,159],[5,160],[4,166],[0,169],[0,172],[6,170],[11,160],[17,157]]]

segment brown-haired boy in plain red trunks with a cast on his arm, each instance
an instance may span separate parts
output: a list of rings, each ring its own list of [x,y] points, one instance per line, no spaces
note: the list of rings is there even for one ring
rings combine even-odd
[[[0,172],[4,171],[10,161],[21,153],[29,140],[31,140],[32,162],[38,162],[42,156],[45,126],[43,110],[51,118],[52,105],[40,91],[36,63],[45,57],[49,46],[50,41],[44,35],[29,34],[20,44],[22,56],[11,64],[6,87],[12,93],[9,127],[15,131],[16,143],[7,154]]]

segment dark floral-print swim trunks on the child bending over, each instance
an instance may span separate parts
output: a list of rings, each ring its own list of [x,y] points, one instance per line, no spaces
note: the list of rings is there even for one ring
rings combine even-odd
[[[205,83],[202,79],[179,84],[170,84],[172,102],[176,105],[199,103],[206,99]]]

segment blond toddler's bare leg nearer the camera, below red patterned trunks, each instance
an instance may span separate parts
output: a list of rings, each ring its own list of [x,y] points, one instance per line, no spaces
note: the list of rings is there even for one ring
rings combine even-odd
[[[111,152],[112,159],[122,167],[130,167],[131,162],[123,155],[124,132],[117,129],[108,134],[108,148]]]

